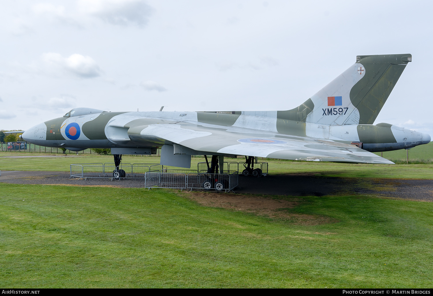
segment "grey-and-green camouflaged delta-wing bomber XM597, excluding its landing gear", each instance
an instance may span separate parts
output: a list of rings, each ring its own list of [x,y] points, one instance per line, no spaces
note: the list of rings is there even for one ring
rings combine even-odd
[[[411,148],[430,135],[373,125],[410,54],[357,56],[356,62],[300,106],[284,111],[106,112],[75,108],[26,130],[36,145],[112,148],[155,154],[190,167],[191,155],[249,155],[305,161],[393,164],[371,152]]]

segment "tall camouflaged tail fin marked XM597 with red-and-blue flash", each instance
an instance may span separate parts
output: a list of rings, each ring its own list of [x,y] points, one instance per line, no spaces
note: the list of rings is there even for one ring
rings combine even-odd
[[[304,122],[320,125],[373,124],[410,61],[410,54],[357,56],[355,64],[307,102],[295,109],[278,112],[284,117],[287,117],[285,113],[305,113],[303,106],[306,105],[308,114],[300,114]]]

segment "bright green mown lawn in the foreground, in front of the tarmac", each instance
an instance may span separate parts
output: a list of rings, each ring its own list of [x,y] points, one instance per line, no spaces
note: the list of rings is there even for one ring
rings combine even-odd
[[[166,190],[0,189],[5,287],[432,286],[432,203],[293,198],[297,225]]]

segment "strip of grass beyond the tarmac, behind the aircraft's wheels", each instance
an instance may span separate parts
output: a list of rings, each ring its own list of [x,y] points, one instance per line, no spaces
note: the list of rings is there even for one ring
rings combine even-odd
[[[433,146],[432,146],[433,147]],[[18,154],[18,153],[17,153]],[[10,155],[10,153],[3,153]],[[19,154],[40,155],[40,154]],[[227,161],[235,159],[227,158]],[[191,158],[191,169],[204,158]],[[238,158],[236,161],[242,161]],[[333,162],[263,160],[269,163],[269,174],[313,173],[323,177],[388,177],[432,179],[432,164],[341,164]],[[81,154],[73,158],[0,158],[2,171],[69,171],[70,164],[113,162],[112,155]],[[159,163],[158,157],[123,156],[124,163]]]

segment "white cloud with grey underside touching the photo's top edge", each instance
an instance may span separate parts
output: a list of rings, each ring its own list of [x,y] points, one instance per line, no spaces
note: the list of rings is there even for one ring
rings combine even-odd
[[[143,0],[79,0],[78,6],[83,13],[120,26],[145,26],[152,14],[152,7]]]

